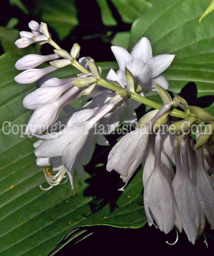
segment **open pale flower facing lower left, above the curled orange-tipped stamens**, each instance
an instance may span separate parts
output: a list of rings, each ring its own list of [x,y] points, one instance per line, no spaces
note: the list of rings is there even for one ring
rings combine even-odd
[[[95,133],[95,126],[99,120],[112,111],[118,101],[107,102],[97,110],[85,109],[75,112],[70,118],[66,118],[65,129],[47,135],[37,136],[41,140],[36,149],[35,155],[41,159],[58,158],[60,168],[65,168],[73,188],[73,174],[76,169],[83,173],[83,165],[86,165],[93,154],[95,143],[108,145],[108,141],[101,134]],[[53,161],[54,164],[54,161]]]

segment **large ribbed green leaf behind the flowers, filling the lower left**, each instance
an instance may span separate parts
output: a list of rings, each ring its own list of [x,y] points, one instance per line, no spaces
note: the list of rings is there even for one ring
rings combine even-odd
[[[136,174],[123,193],[117,191],[122,186],[119,175],[105,171],[105,166],[96,168],[100,168],[98,173],[102,171],[102,175],[107,175],[108,178],[113,175],[112,181],[115,181],[115,178],[118,180],[113,185],[108,179],[102,181],[100,178],[100,181],[97,176],[93,176],[84,181],[75,174],[74,190],[71,190],[69,182],[47,191],[39,188],[40,184],[44,188],[47,188],[48,184],[42,167],[36,166],[32,146],[35,138],[29,138],[22,133],[22,129],[24,132],[22,125],[28,122],[32,114],[32,111],[23,108],[22,100],[26,94],[35,90],[35,85],[19,85],[13,80],[13,77],[20,72],[14,67],[19,57],[21,56],[11,53],[0,57],[1,256],[44,255],[48,249],[61,241],[66,233],[71,234],[73,228],[77,227],[143,226],[146,217],[142,205],[141,171]],[[98,63],[98,65],[102,67],[104,74],[110,67],[117,68],[117,63]],[[75,68],[65,67],[55,71],[53,75],[66,78],[76,73]],[[12,134],[12,129],[17,134]],[[107,150],[106,147],[102,148]],[[90,163],[88,170],[94,170],[94,166],[101,163],[102,155],[102,152],[96,155],[97,158],[95,157]],[[98,179],[96,185],[93,185],[94,179]],[[103,186],[100,188],[102,193],[98,190],[100,182],[105,184],[104,190]],[[97,194],[94,196],[92,191],[97,191]],[[81,232],[77,230],[78,237]],[[63,246],[63,243],[64,240],[59,246]]]

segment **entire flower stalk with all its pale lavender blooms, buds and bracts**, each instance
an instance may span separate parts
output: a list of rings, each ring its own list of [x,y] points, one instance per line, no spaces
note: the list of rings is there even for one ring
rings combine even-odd
[[[51,55],[30,54],[15,64],[18,70],[24,70],[15,77],[17,83],[36,82],[37,89],[24,98],[23,106],[34,110],[25,133],[38,138],[34,143],[36,163],[44,166],[50,185],[40,188],[48,190],[68,180],[73,188],[74,171],[84,178],[83,166],[90,162],[95,144],[108,146],[104,135],[123,122],[134,129],[113,146],[106,170],[118,172],[126,186],[142,165],[149,226],[155,225],[166,234],[174,227],[179,232],[184,230],[192,244],[203,234],[206,222],[214,229],[214,116],[188,105],[178,95],[171,99],[162,72],[175,55],[152,56],[146,37],[131,53],[112,46],[119,69],[110,69],[103,78],[102,69],[91,57],[79,58],[77,43],[69,53],[52,40],[46,23],[31,21],[29,28],[31,32],[20,32],[17,47],[48,43],[54,48]],[[50,64],[36,68],[44,62]],[[77,77],[58,79],[49,75],[67,65],[79,70]],[[148,91],[157,91],[163,104],[147,99]],[[90,101],[81,110],[69,105],[84,95]],[[135,109],[140,104],[153,110],[137,121]],[[62,109],[66,116],[58,120]],[[57,130],[43,133],[53,125]],[[191,137],[192,127],[197,130],[196,140]],[[54,175],[46,168],[50,165]]]

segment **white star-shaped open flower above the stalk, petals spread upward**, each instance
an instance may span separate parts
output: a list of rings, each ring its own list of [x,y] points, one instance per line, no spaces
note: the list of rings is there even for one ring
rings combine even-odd
[[[160,75],[170,66],[175,55],[163,54],[152,57],[151,44],[146,37],[142,37],[133,47],[131,53],[119,46],[112,46],[112,52],[119,65],[118,76],[125,81],[125,67],[131,71],[136,84],[142,87],[143,95],[146,90],[156,90],[155,84],[168,89],[168,82]]]

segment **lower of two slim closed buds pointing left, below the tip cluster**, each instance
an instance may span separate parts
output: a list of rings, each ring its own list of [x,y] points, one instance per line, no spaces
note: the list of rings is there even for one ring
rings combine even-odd
[[[45,68],[30,68],[16,75],[14,80],[19,84],[31,84],[39,80],[39,78],[43,77],[43,75],[51,73],[55,70],[57,70],[57,68],[52,66]]]

